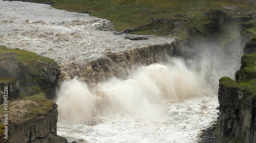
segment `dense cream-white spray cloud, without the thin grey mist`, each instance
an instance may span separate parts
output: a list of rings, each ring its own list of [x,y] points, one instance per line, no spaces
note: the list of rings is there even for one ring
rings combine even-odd
[[[129,79],[110,79],[89,90],[86,83],[72,79],[63,82],[56,103],[61,118],[89,118],[96,109],[121,111],[131,115],[156,116],[154,106],[163,100],[179,101],[198,96],[198,75],[187,69],[184,61],[154,64],[138,68]]]

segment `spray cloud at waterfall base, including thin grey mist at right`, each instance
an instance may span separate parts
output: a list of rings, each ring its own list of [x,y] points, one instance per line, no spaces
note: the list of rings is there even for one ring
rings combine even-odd
[[[137,68],[128,79],[116,77],[88,88],[78,79],[62,83],[58,92],[60,118],[88,119],[99,111],[122,112],[145,119],[160,116],[156,105],[163,101],[217,94],[219,78],[234,75],[240,48],[229,59],[226,49],[200,45],[193,58],[169,58],[168,62]],[[194,51],[194,52],[195,52]],[[231,77],[232,78],[232,77]]]

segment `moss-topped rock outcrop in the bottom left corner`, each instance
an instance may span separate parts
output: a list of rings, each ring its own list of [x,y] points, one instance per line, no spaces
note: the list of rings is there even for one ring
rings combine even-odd
[[[5,121],[3,108],[4,106],[1,105],[1,128]],[[67,140],[61,140],[57,136],[57,104],[47,100],[44,94],[40,93],[23,99],[10,100],[8,111],[9,139],[1,137],[0,142],[67,142]],[[3,132],[3,128],[0,132]],[[3,135],[1,133],[1,136]]]

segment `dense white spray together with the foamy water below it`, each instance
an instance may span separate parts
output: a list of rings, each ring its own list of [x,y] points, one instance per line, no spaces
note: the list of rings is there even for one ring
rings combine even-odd
[[[58,134],[89,142],[196,142],[218,112],[217,96],[203,92],[199,73],[173,58],[93,89],[67,80],[56,101]]]

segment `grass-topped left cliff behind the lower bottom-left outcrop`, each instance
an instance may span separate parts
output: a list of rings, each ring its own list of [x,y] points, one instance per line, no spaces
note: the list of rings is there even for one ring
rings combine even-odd
[[[0,83],[19,83],[22,97],[48,92],[57,85],[57,63],[36,53],[0,45]]]

